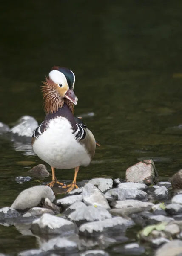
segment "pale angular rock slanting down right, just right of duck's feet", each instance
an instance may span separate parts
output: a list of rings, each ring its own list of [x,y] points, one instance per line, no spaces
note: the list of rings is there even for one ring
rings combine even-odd
[[[96,205],[110,209],[105,196],[91,183],[86,184],[83,188],[83,202],[87,205]]]

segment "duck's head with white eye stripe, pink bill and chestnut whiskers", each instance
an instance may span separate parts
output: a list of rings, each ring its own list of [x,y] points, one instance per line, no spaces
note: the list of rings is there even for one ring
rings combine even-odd
[[[71,70],[59,66],[52,67],[42,86],[46,113],[56,112],[64,103],[74,111],[74,104],[78,101],[73,91],[74,83],[75,76]]]

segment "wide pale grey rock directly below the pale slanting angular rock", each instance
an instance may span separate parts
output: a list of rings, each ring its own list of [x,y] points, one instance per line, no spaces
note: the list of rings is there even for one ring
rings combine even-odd
[[[76,211],[72,212],[68,218],[71,221],[74,221],[77,226],[80,226],[88,221],[103,221],[105,219],[112,218],[112,216],[105,208],[90,205],[77,209]]]

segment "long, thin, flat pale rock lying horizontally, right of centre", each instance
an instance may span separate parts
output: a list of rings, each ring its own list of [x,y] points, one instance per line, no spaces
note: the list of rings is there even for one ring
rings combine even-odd
[[[152,206],[154,206],[154,204],[149,202],[141,202],[138,200],[128,199],[123,201],[115,201],[113,206],[115,208],[122,208],[122,209],[125,209],[128,207],[151,209]]]

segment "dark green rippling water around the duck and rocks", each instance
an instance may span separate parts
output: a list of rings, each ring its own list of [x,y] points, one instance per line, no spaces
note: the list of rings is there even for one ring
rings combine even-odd
[[[3,2],[0,121],[11,126],[31,115],[42,122],[40,81],[53,65],[68,67],[76,75],[75,114],[95,113],[84,122],[102,145],[78,180],[124,178],[143,157],[154,159],[160,180],[167,180],[182,168],[182,130],[170,129],[182,123],[181,10],[180,0]],[[4,207],[40,184],[14,179],[42,161],[3,138],[0,152]],[[73,171],[57,171],[57,177],[71,180]],[[0,252],[35,247],[34,237],[0,227]]]

